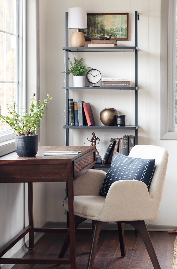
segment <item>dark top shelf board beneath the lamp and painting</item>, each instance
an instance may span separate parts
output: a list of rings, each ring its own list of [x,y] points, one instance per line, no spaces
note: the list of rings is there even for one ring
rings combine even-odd
[[[139,51],[137,47],[62,47],[64,51],[78,52],[78,51]]]

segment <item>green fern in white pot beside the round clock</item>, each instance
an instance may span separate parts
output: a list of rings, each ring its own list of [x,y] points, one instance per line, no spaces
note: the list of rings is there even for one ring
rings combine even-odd
[[[68,71],[64,71],[62,73],[73,74],[73,85],[74,87],[84,87],[85,86],[85,73],[92,69],[91,67],[85,67],[83,65],[83,58],[80,60],[74,57],[74,62],[68,58],[71,68]]]

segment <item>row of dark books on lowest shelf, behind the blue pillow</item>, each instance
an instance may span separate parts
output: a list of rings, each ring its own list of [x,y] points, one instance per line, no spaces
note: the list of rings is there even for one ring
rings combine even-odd
[[[135,146],[135,135],[124,135],[121,138],[111,138],[107,146],[102,164],[112,163],[116,152],[128,156],[133,146]]]

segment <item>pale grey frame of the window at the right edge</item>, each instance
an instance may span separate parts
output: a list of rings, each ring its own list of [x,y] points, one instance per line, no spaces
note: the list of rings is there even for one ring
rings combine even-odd
[[[176,0],[161,1],[161,122],[160,139],[177,140],[175,117]]]

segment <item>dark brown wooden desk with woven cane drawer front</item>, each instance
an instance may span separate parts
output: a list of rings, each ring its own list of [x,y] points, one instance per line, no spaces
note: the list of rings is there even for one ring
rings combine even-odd
[[[43,151],[81,150],[78,155],[44,156]],[[95,148],[89,146],[39,147],[35,157],[18,157],[16,152],[0,157],[0,183],[28,182],[29,225],[0,249],[0,264],[71,264],[76,269],[73,181],[88,169],[95,168]],[[66,232],[63,228],[33,227],[33,182],[66,182],[69,202],[70,259],[1,258],[29,233],[29,247],[34,247],[34,232]]]

